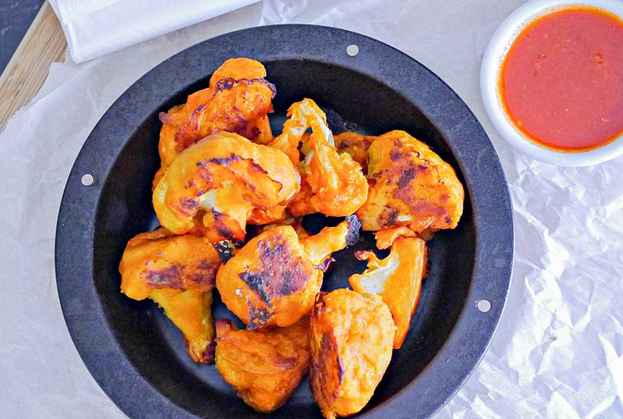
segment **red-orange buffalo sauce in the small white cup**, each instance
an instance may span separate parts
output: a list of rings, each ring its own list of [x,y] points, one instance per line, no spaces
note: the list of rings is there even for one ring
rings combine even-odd
[[[547,148],[581,152],[623,134],[623,21],[573,6],[528,24],[498,80],[509,119]]]

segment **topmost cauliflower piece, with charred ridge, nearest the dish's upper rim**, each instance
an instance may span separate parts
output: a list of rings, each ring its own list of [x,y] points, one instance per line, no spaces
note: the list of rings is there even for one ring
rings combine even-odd
[[[236,132],[260,144],[272,141],[267,113],[272,112],[275,89],[265,77],[266,69],[261,62],[231,58],[213,73],[206,89],[192,93],[184,105],[162,112],[159,141],[162,167],[169,166],[188,145],[216,130]]]

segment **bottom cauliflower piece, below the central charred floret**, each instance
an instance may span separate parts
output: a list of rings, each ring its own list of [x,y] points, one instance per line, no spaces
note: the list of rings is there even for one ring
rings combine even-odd
[[[216,329],[216,367],[224,380],[257,411],[281,407],[309,369],[309,317],[262,331],[219,320]]]

